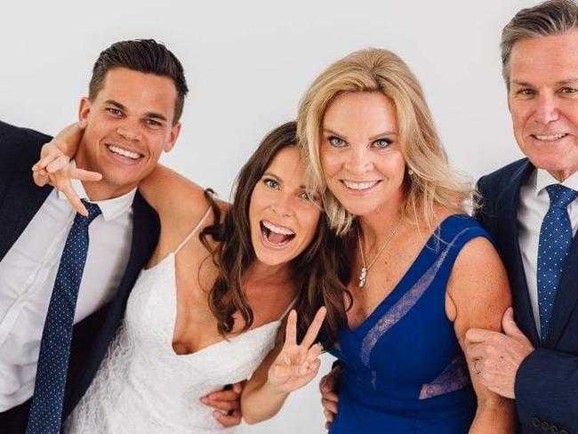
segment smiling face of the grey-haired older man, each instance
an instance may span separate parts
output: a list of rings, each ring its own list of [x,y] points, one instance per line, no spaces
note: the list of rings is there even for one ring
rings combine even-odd
[[[558,180],[578,170],[578,31],[514,44],[508,105],[526,157]]]

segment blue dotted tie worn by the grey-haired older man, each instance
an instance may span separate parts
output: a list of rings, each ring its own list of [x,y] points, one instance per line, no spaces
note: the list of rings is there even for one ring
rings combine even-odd
[[[542,341],[548,336],[556,292],[572,244],[572,225],[567,207],[578,197],[578,191],[561,184],[546,187],[550,208],[542,221],[538,244],[538,306]]]

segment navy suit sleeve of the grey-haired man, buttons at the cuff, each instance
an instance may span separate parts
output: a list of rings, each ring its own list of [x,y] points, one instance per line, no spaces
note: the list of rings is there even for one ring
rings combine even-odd
[[[519,420],[536,418],[566,430],[578,430],[578,357],[538,348],[518,369],[516,407]]]

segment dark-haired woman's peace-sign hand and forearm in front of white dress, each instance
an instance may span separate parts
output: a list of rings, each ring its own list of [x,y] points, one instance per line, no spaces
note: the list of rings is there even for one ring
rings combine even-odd
[[[278,340],[247,383],[241,396],[245,422],[253,424],[273,417],[293,390],[317,376],[321,345],[313,344],[325,318],[325,308],[317,311],[300,345],[297,344],[297,312],[287,318],[285,344]]]

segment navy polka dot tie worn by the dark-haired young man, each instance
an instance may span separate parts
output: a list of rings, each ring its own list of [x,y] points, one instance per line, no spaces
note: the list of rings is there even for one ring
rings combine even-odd
[[[100,214],[98,205],[84,200],[83,203],[88,217],[76,214],[48,305],[27,434],[60,433],[76,299],[88,253],[88,225]]]

